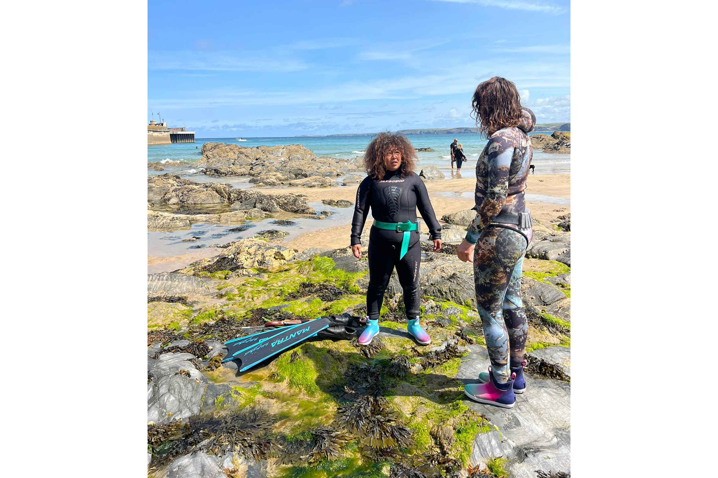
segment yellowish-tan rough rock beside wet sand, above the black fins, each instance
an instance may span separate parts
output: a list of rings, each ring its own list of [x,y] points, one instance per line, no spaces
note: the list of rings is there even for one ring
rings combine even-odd
[[[255,269],[256,267],[273,268],[286,264],[297,255],[295,249],[270,245],[261,239],[242,239],[233,242],[223,249],[222,253],[208,259],[192,262],[189,267],[177,272],[180,274],[197,274],[198,272],[236,271]]]

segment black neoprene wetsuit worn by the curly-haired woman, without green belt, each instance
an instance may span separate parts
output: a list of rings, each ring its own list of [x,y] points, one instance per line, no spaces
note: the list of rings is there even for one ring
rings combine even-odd
[[[424,181],[416,173],[401,177],[398,171],[387,171],[381,181],[367,176],[357,189],[357,201],[352,221],[352,245],[360,244],[366,217],[371,215],[382,222],[416,222],[416,208],[429,227],[432,239],[441,239],[442,227],[434,215],[434,208],[426,193]],[[411,231],[409,249],[402,259],[401,241],[404,232],[388,231],[371,226],[369,233],[369,287],[366,293],[367,315],[379,318],[384,291],[396,267],[399,283],[404,290],[406,317],[419,316],[419,265],[421,244],[419,231]]]

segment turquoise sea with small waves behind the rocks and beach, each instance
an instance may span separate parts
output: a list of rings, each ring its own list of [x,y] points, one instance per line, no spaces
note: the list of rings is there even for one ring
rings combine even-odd
[[[533,134],[551,134],[551,132],[536,132]],[[470,161],[462,167],[462,176],[474,175],[476,166],[475,159],[486,145],[486,139],[478,134],[462,135],[407,135],[414,148],[432,148],[433,152],[419,151],[419,165],[417,170],[423,166],[437,166],[444,171],[447,179],[451,178],[451,159],[449,156],[449,144],[454,138],[463,144],[464,153]],[[161,161],[197,161],[201,157],[200,150],[204,143],[231,143],[253,148],[256,146],[275,146],[301,144],[312,150],[316,156],[331,156],[333,158],[354,158],[361,156],[364,148],[371,141],[370,136],[320,136],[320,137],[284,137],[284,138],[244,138],[246,141],[237,141],[236,138],[197,138],[195,143],[175,143],[171,145],[147,146],[147,162],[155,163]],[[473,160],[473,161],[472,161]],[[536,174],[567,174],[571,172],[570,154],[547,154],[541,151],[533,152],[532,164],[536,166]],[[168,171],[166,171],[168,172]],[[180,176],[192,176],[201,171],[192,168],[191,164],[181,171],[169,171]],[[204,175],[201,175],[204,176]],[[197,181],[200,181],[197,179]],[[203,180],[202,180],[203,181]]]

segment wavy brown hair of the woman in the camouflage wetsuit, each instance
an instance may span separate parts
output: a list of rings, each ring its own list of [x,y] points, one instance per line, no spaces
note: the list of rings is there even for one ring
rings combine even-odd
[[[521,122],[521,99],[516,85],[502,77],[479,83],[471,100],[471,116],[489,136],[502,128],[518,126]]]

